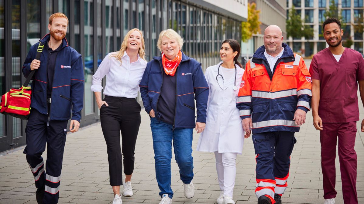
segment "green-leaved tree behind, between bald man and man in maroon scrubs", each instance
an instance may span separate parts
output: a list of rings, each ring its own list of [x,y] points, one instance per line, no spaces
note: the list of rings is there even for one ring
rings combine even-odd
[[[313,37],[313,28],[309,25],[304,25],[301,15],[296,12],[294,7],[289,9],[288,19],[286,20],[286,32],[287,37],[305,37],[306,39]]]

